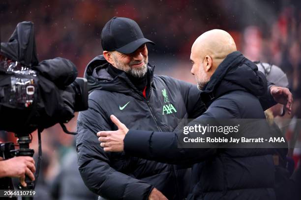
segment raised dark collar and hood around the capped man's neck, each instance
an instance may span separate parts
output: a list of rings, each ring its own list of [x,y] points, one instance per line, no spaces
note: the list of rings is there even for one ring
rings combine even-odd
[[[134,95],[139,99],[141,95],[137,95],[141,93],[134,84],[127,77],[125,72],[120,73],[115,78],[113,78],[107,72],[106,68],[108,67],[108,62],[104,58],[103,55],[96,56],[93,60],[91,60],[85,70],[84,77],[88,80],[88,90],[89,93],[96,89],[111,91],[111,92],[119,92],[126,95]],[[148,82],[152,86],[153,81],[153,71],[155,66],[151,66],[148,63]],[[149,91],[149,95],[151,94],[151,89]]]

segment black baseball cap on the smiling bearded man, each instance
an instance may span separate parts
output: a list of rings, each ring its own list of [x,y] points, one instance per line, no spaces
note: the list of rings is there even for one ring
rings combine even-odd
[[[154,43],[144,37],[139,25],[131,19],[113,17],[101,31],[101,46],[103,50],[117,50],[128,54],[137,50],[145,43]]]

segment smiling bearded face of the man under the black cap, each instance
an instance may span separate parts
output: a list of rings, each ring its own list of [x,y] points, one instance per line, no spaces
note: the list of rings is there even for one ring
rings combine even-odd
[[[103,55],[114,67],[134,77],[143,77],[147,73],[149,59],[146,44],[130,54],[123,54],[118,51],[103,51]]]

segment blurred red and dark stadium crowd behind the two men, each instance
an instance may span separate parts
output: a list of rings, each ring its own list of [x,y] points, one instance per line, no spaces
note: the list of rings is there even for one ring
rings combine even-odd
[[[301,118],[300,0],[1,0],[1,41],[7,41],[17,23],[32,21],[39,60],[70,59],[83,77],[88,62],[102,54],[100,33],[114,16],[135,20],[145,37],[156,43],[148,46],[155,74],[192,83],[189,56],[194,40],[210,29],[228,31],[248,59],[275,64],[287,74],[294,106],[293,114],[283,118]],[[67,126],[75,131],[76,117]],[[290,127],[287,138],[296,131],[298,127]],[[31,148],[37,152],[37,135],[32,136]],[[2,131],[0,140],[15,138]],[[74,144],[74,137],[58,125],[42,132],[39,190],[43,199],[45,194],[49,199],[64,199],[62,188],[72,189],[75,180],[60,177],[76,168]],[[299,148],[293,150],[293,157],[297,165]]]

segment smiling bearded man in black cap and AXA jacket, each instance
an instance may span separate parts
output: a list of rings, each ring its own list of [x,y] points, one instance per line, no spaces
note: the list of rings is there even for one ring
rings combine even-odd
[[[111,114],[130,129],[168,132],[178,119],[193,119],[205,111],[196,85],[153,75],[146,43],[153,44],[136,22],[114,17],[101,33],[103,55],[90,61],[85,71],[89,110],[78,116],[78,165],[88,188],[104,199],[180,200],[189,190],[189,166],[105,152],[96,136],[99,130],[118,129]],[[265,100],[272,105],[269,93]]]

